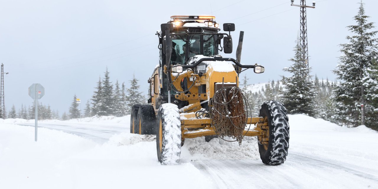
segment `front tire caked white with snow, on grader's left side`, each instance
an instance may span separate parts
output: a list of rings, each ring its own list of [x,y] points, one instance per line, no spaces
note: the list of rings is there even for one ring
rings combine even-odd
[[[156,124],[156,151],[162,165],[180,163],[181,121],[175,104],[162,104],[159,107]]]

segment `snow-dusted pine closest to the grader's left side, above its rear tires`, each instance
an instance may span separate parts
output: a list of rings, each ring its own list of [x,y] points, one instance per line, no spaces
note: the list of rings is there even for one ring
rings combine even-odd
[[[139,91],[138,79],[135,78],[133,74],[133,79],[130,80],[130,88],[127,88],[127,114],[130,114],[131,108],[135,104],[145,104],[146,99],[142,95],[142,92]]]

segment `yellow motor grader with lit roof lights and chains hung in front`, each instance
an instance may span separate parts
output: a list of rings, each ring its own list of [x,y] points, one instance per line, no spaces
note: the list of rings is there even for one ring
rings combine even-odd
[[[161,24],[160,61],[148,79],[147,105],[133,105],[130,133],[156,135],[158,161],[178,164],[185,138],[219,137],[242,143],[244,136],[257,136],[260,158],[268,165],[286,160],[289,147],[287,111],[278,101],[261,106],[252,117],[244,91],[239,88],[243,68],[263,73],[261,65],[240,64],[243,31],[236,60],[232,53],[233,23],[221,33],[214,16],[176,15]],[[223,39],[223,45],[222,45]]]

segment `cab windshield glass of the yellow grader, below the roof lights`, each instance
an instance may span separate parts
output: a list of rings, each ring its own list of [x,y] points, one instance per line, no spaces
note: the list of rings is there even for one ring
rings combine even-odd
[[[178,34],[172,36],[172,64],[185,64],[195,55],[210,56],[216,54],[215,35],[187,35]]]

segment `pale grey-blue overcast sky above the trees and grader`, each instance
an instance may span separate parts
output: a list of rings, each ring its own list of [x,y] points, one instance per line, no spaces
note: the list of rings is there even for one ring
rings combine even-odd
[[[311,5],[312,1],[307,1]],[[355,24],[359,0],[321,0],[307,9],[308,46],[313,75],[335,79],[339,44],[350,35],[345,26]],[[370,22],[378,22],[378,1],[364,0]],[[295,0],[299,4],[299,0]],[[242,64],[261,64],[265,73],[245,71],[249,84],[280,79],[282,68],[291,65],[297,34],[299,8],[290,0],[270,1],[125,1],[125,0],[33,0],[1,1],[0,63],[5,72],[5,105],[31,105],[28,87],[40,83],[50,104],[68,112],[73,95],[85,102],[91,98],[105,68],[115,83],[135,74],[147,94],[147,79],[158,64],[156,30],[171,15],[212,14],[216,21],[233,22],[244,31]],[[377,24],[375,24],[378,26]],[[376,28],[378,29],[378,28]],[[235,53],[227,54],[235,57]]]

